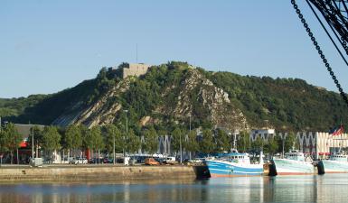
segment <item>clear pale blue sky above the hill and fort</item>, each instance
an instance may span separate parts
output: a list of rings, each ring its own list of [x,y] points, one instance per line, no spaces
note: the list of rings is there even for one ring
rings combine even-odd
[[[337,78],[348,67],[297,1]],[[72,88],[121,62],[302,78],[337,91],[289,0],[2,0],[0,97]]]

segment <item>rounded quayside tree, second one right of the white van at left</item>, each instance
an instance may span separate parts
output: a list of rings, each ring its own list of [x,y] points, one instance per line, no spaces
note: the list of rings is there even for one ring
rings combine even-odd
[[[70,151],[77,150],[82,147],[82,134],[80,128],[77,125],[69,125],[64,134],[65,148]]]

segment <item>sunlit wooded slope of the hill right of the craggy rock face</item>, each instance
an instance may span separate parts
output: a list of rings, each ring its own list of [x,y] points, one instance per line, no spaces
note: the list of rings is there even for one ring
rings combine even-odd
[[[344,113],[347,108],[337,93],[309,85],[305,80],[204,73],[216,86],[229,92],[230,99],[240,106],[252,126],[327,131],[348,122]]]

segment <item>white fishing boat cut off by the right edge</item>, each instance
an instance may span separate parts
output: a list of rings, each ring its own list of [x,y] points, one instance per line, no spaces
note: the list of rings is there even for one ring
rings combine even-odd
[[[348,172],[348,155],[336,153],[329,156],[328,160],[322,160],[325,173]]]

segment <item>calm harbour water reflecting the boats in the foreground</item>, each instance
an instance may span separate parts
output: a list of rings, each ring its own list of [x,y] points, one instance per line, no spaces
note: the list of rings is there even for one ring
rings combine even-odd
[[[0,202],[348,202],[348,174],[0,184]]]

